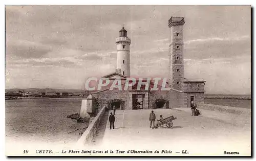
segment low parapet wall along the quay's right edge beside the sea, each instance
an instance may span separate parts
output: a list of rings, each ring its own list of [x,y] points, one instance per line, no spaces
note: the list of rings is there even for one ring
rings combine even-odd
[[[198,108],[219,111],[222,113],[234,113],[234,114],[251,114],[251,110],[247,108],[239,108],[239,107],[230,107],[230,106],[221,106],[214,104],[197,104]]]

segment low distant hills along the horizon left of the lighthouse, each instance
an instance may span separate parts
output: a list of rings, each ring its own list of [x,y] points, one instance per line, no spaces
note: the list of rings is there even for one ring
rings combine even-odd
[[[12,88],[12,89],[5,89],[6,92],[14,92],[14,91],[25,91],[25,92],[68,92],[68,93],[84,93],[83,89],[55,89],[55,88]]]

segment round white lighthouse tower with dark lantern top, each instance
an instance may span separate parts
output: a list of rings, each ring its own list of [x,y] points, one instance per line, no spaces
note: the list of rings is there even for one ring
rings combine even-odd
[[[119,37],[116,38],[117,45],[117,65],[116,73],[130,77],[130,44],[131,39],[127,37],[127,31],[124,27],[119,31]]]

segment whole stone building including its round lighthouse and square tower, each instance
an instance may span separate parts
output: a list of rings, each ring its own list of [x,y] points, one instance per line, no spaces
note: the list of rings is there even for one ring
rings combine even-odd
[[[156,109],[190,107],[191,100],[194,100],[195,103],[203,103],[205,80],[186,79],[184,77],[184,24],[184,17],[171,17],[168,20],[170,30],[169,68],[166,70],[169,70],[169,76],[164,86],[169,87],[169,90],[151,90],[150,88],[148,90],[143,88],[137,90],[134,86],[128,90],[109,90],[109,87],[105,87],[100,91],[91,93],[99,108],[108,106],[109,109],[112,109],[113,105],[115,105],[117,109]],[[122,28],[119,31],[119,37],[116,38],[116,72],[102,77],[109,78],[110,81],[116,78],[121,79],[122,88],[125,80],[130,77],[130,44],[131,39],[127,37],[127,31]],[[151,82],[150,85],[152,86],[153,83]],[[161,87],[163,85],[158,86]],[[90,99],[92,98],[92,96],[89,97]]]

